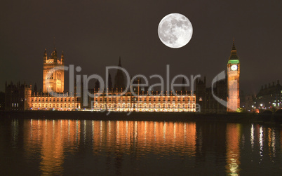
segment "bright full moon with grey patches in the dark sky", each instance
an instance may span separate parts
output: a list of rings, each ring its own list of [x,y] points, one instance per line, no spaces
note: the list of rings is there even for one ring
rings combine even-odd
[[[161,42],[170,48],[181,48],[192,38],[193,27],[188,18],[180,13],[166,15],[158,27]]]

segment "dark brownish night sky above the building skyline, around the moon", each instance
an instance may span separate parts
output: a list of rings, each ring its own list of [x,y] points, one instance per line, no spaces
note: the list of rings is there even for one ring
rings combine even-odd
[[[54,36],[65,65],[80,66],[80,74],[105,77],[105,67],[118,65],[121,56],[130,76],[165,76],[170,65],[170,79],[201,74],[210,86],[227,69],[234,37],[241,90],[255,94],[264,84],[282,81],[281,7],[280,0],[2,1],[0,91],[5,81],[42,88],[43,52],[51,55]],[[169,13],[192,22],[192,39],[182,48],[168,48],[159,39],[159,22]]]

